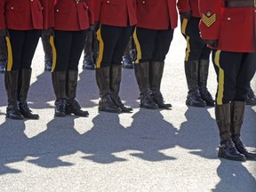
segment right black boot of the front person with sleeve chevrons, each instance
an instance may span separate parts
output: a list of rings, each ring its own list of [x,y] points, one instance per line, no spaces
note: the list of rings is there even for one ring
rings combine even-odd
[[[247,159],[256,160],[256,154],[249,152],[240,139],[240,132],[244,121],[244,106],[245,102],[243,101],[234,101],[231,103],[231,138],[239,153],[244,154]]]

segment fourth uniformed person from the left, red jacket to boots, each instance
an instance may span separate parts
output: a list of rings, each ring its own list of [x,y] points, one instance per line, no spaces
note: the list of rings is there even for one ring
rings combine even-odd
[[[164,59],[178,23],[176,1],[138,0],[136,10],[134,70],[140,88],[140,108],[171,108],[171,104],[164,103],[160,86]]]

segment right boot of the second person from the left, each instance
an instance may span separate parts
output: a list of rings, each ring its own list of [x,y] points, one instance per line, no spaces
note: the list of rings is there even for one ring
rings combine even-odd
[[[66,77],[66,94],[67,103],[65,113],[66,115],[74,114],[75,116],[88,116],[88,111],[81,110],[81,107],[76,98],[78,70],[68,70]]]

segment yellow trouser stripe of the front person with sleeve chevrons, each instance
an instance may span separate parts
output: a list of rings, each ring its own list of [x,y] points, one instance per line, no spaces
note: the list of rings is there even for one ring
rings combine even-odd
[[[220,53],[218,50],[215,54],[214,64],[219,68],[219,79],[218,79],[218,92],[217,92],[217,105],[222,105],[223,92],[224,92],[224,70],[220,68]]]

